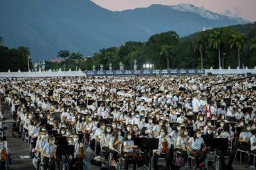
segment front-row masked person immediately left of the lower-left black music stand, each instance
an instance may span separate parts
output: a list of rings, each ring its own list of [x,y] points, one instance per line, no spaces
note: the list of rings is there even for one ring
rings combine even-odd
[[[56,153],[55,137],[49,136],[48,143],[42,149],[43,167],[44,170],[48,169],[48,163],[50,163],[51,170],[55,169],[55,153]]]

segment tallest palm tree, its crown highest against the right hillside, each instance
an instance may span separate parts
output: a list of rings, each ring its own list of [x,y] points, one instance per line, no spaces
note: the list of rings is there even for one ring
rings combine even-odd
[[[219,50],[219,46],[221,45],[221,31],[220,30],[214,30],[210,34],[210,47],[213,49],[218,49],[219,52],[219,68],[221,68],[221,51]]]

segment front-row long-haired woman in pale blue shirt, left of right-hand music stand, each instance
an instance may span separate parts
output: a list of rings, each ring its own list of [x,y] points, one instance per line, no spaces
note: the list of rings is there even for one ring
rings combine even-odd
[[[201,148],[201,145],[203,145],[203,148]],[[194,157],[196,160],[196,167],[204,167],[203,160],[205,159],[205,153],[206,145],[204,143],[203,138],[201,137],[201,130],[196,129],[194,131],[194,136],[190,138],[187,142],[187,148],[190,152],[190,156]],[[199,161],[199,158],[201,158],[201,161]]]

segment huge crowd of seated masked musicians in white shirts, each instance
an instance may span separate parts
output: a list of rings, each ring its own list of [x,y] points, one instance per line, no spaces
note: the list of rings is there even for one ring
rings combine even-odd
[[[124,162],[125,169],[152,162],[157,170],[159,158],[172,169],[176,154],[188,167],[201,168],[208,153],[219,156],[221,169],[232,169],[241,149],[255,169],[256,81],[232,81],[242,77],[16,78],[3,79],[0,89],[12,113],[17,111],[35,167],[55,169],[67,162],[68,169],[83,169],[88,149],[103,163]],[[142,148],[138,138],[158,143]],[[227,149],[216,151],[217,138],[226,139]],[[60,154],[62,145],[72,153]]]

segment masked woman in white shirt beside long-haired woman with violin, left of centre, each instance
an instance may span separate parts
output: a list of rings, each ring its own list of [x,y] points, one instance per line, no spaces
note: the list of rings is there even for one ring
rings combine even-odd
[[[100,138],[100,147],[104,151],[104,158],[107,159],[109,156],[109,140],[111,138],[111,126],[107,125]]]

